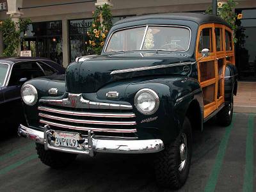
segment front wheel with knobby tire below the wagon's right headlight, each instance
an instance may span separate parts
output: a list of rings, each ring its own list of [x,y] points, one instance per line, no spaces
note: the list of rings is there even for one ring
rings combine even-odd
[[[191,125],[186,117],[176,140],[164,145],[164,150],[156,154],[154,168],[159,186],[179,189],[184,185],[191,163],[191,141]]]

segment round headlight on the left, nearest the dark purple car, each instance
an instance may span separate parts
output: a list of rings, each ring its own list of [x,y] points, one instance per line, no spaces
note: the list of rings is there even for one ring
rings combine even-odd
[[[25,84],[22,86],[21,90],[21,98],[25,104],[29,106],[33,106],[37,101],[37,91],[35,86],[32,84]]]

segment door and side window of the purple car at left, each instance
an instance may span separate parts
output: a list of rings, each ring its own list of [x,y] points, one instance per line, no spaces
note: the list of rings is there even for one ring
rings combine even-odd
[[[33,79],[35,77],[44,76],[44,72],[38,66],[36,61],[24,61],[13,64],[10,79],[6,88],[4,89],[4,111],[6,119],[10,122],[13,120],[20,121],[23,116],[22,105],[20,100],[20,79]],[[15,118],[13,118],[15,117]]]

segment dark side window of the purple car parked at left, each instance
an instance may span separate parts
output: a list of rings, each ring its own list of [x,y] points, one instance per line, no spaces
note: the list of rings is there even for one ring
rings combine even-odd
[[[44,76],[41,68],[35,61],[28,61],[23,63],[15,63],[12,68],[12,74],[8,86],[19,84],[21,78],[33,79],[35,77]]]

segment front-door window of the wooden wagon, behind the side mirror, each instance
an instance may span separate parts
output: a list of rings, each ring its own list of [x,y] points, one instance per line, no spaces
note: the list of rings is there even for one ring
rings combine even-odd
[[[205,48],[212,52],[212,28],[202,29],[200,33],[198,51],[201,52]]]

